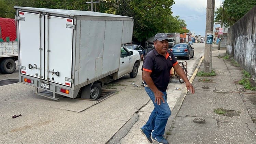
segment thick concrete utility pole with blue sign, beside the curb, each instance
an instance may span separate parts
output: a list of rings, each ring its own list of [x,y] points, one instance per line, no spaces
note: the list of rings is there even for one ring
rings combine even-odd
[[[204,65],[203,71],[210,73],[212,70],[212,41],[213,41],[213,23],[214,23],[215,0],[207,0],[206,6],[206,27],[204,44]]]

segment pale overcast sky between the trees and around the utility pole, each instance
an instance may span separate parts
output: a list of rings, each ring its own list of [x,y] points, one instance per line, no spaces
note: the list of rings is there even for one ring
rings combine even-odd
[[[187,24],[187,29],[196,35],[205,36],[207,0],[174,0],[173,16],[180,16]],[[224,0],[215,0],[215,10]],[[215,26],[214,26],[215,27]]]

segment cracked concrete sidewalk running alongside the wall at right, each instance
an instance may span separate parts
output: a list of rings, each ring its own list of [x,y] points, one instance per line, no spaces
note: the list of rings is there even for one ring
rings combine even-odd
[[[219,58],[225,55],[226,49],[218,50],[213,46],[212,69],[216,76],[192,77],[195,94],[189,92],[175,104],[165,133],[169,143],[256,143],[256,91],[241,92],[243,86],[237,82],[242,79],[242,69],[231,60]],[[203,71],[203,64],[202,60],[198,71]],[[207,80],[210,82],[205,82]],[[220,115],[215,109],[231,111]],[[205,121],[195,123],[194,118]]]

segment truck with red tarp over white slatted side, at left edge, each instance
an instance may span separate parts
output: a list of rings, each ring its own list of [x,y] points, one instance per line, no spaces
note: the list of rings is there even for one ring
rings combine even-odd
[[[0,72],[13,73],[15,61],[18,61],[15,19],[0,17]]]

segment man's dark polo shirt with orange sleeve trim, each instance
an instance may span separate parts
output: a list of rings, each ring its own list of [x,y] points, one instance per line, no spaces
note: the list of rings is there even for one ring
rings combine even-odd
[[[178,64],[171,51],[168,50],[166,53],[164,57],[153,49],[143,61],[143,70],[152,72],[150,76],[160,91],[166,91],[170,80],[170,70],[172,66]]]

